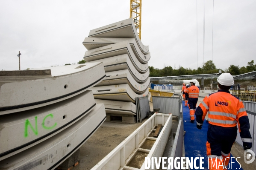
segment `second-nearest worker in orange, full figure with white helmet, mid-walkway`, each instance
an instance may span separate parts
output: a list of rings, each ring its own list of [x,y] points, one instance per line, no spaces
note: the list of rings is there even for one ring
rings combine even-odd
[[[187,88],[186,95],[188,98],[188,108],[190,114],[190,122],[194,123],[194,113],[197,108],[197,101],[199,96],[199,88],[195,86],[197,80],[191,80],[190,87]]]

